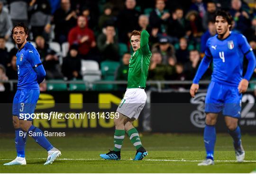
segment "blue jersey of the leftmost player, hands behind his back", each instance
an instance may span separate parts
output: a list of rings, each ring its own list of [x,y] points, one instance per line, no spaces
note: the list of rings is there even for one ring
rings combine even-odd
[[[32,43],[27,42],[18,51],[17,70],[18,70],[18,89],[39,89],[37,83],[37,73],[34,68],[41,63],[39,53]]]

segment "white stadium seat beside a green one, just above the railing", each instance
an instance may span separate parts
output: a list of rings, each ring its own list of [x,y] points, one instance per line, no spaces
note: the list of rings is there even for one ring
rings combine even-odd
[[[96,81],[101,79],[101,70],[97,61],[82,60],[81,74],[85,81]]]

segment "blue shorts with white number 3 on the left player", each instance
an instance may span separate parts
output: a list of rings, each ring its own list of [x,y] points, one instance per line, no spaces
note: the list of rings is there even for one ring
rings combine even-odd
[[[21,115],[34,113],[39,94],[39,89],[18,89],[13,98],[12,115],[24,120]],[[27,118],[27,120],[32,121],[32,118]]]

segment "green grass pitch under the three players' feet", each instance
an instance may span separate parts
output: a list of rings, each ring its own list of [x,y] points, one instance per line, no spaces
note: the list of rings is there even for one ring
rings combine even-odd
[[[119,161],[99,157],[113,147],[112,134],[66,132],[65,137],[49,139],[62,151],[62,156],[52,165],[43,165],[46,151],[28,137],[27,165],[4,166],[16,157],[14,133],[0,134],[0,173],[250,173],[256,170],[255,134],[242,136],[246,150],[243,163],[236,162],[231,137],[218,134],[215,165],[211,166],[197,166],[205,157],[201,134],[141,134],[149,154],[142,161],[131,160],[136,151],[127,136]]]

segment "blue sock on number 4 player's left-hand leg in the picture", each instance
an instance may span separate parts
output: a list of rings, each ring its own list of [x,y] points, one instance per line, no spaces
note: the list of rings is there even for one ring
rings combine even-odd
[[[216,142],[215,125],[213,126],[210,126],[207,124],[205,125],[203,139],[204,139],[204,146],[206,150],[206,158],[210,158],[213,160],[214,146]]]

